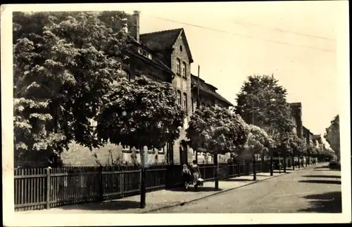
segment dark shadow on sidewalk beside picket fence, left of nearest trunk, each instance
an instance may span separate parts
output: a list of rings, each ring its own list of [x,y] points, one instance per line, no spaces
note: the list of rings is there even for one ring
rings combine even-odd
[[[80,205],[70,205],[60,207],[61,209],[84,209],[84,210],[124,210],[140,208],[140,203],[136,201],[113,200],[104,202],[89,202]]]

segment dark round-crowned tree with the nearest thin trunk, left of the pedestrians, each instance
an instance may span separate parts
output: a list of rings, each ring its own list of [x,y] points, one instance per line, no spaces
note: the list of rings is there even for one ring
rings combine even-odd
[[[162,148],[180,136],[185,111],[177,104],[172,84],[141,77],[134,82],[122,80],[102,98],[96,116],[96,134],[101,141],[139,148]],[[141,207],[145,206],[146,170],[142,165]]]

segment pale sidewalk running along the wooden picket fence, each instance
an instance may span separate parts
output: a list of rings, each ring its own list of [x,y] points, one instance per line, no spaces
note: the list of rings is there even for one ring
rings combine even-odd
[[[309,167],[316,167],[309,166]],[[308,168],[309,168],[308,167]],[[301,168],[306,169],[307,167]],[[297,169],[298,170],[298,169]],[[295,170],[296,171],[296,170]],[[287,169],[287,174],[292,172],[291,169]],[[241,188],[258,181],[265,181],[272,179],[277,176],[284,174],[281,171],[279,174],[278,170],[274,171],[274,176],[270,176],[270,173],[257,173],[257,181],[253,181],[253,175],[239,176],[232,179],[226,179],[219,181],[219,190],[215,191],[214,181],[205,182],[202,187],[199,187],[198,192],[194,192],[194,188],[190,187],[186,192],[183,188],[172,188],[164,190],[156,190],[146,194],[146,207],[144,209],[139,208],[140,195],[134,195],[132,197],[125,197],[119,200],[109,200],[104,202],[90,202],[81,205],[69,205],[65,207],[57,207],[52,209],[42,210],[31,210],[25,212],[15,212],[16,214],[115,214],[115,213],[130,213],[130,214],[141,214],[166,207],[174,207],[177,205],[183,205],[184,203],[194,202],[196,200],[203,199],[219,193],[224,193],[228,190],[235,188]]]

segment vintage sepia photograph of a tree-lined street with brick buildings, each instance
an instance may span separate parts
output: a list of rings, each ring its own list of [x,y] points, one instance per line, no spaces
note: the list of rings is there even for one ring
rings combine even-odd
[[[8,22],[15,214],[351,212],[339,1],[48,7]]]

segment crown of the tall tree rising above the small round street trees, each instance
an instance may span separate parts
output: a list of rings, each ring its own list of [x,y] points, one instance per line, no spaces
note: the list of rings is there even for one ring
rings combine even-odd
[[[237,94],[235,111],[274,138],[274,134],[284,134],[294,126],[286,96],[287,90],[273,75],[249,76]]]

